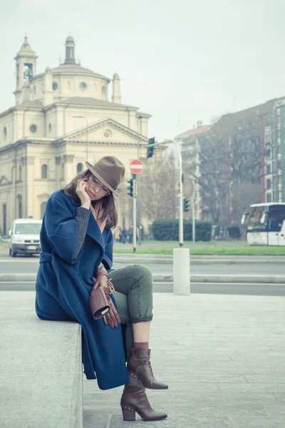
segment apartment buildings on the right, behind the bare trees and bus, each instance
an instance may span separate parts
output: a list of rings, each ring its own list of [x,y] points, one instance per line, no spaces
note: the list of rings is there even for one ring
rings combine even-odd
[[[176,137],[196,218],[239,223],[251,203],[285,201],[285,99],[197,123]],[[185,194],[186,195],[186,194]]]

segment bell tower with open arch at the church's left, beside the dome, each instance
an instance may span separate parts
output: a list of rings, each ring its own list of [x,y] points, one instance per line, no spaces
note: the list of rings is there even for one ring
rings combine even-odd
[[[36,74],[36,52],[31,49],[28,44],[28,36],[24,37],[24,43],[16,55],[16,105],[21,103],[21,93],[23,85],[30,82],[31,78]]]

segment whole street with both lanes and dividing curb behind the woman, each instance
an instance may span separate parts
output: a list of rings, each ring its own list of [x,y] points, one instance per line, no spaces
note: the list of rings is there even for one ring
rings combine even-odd
[[[173,292],[172,258],[155,260],[147,255],[138,258],[133,254],[117,254],[114,259],[114,269],[137,263],[147,265],[154,275],[154,292]],[[283,258],[266,262],[262,258],[192,258],[191,293],[284,296]],[[33,291],[37,270],[38,256],[11,258],[1,249],[0,291]]]

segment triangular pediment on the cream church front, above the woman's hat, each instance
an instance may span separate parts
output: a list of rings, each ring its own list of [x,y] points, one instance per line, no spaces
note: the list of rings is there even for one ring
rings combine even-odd
[[[81,128],[78,131],[73,131],[61,139],[65,141],[86,141],[86,132],[88,141],[94,143],[138,143],[138,141],[147,141],[145,136],[136,133],[135,131],[123,126],[122,124],[113,121],[113,119],[105,119],[98,123],[93,123],[88,128]]]

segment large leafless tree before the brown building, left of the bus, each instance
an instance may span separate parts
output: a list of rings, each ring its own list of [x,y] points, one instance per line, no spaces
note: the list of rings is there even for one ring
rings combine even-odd
[[[258,123],[243,123],[199,136],[185,153],[185,170],[199,183],[214,223],[240,220],[250,203],[260,200],[263,153]],[[199,156],[197,156],[199,153]],[[197,173],[199,165],[199,173]]]

